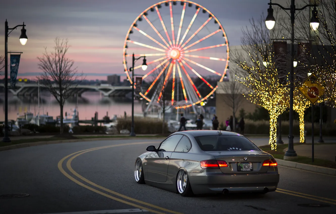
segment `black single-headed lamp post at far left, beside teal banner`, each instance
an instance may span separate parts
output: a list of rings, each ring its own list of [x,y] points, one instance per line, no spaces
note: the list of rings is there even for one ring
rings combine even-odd
[[[25,22],[23,24],[16,25],[14,28],[8,28],[7,19],[5,21],[5,133],[2,139],[2,142],[10,143],[10,139],[8,137],[8,35],[17,27],[22,26],[21,35],[19,37],[20,43],[22,45],[26,45],[27,43],[27,35],[25,29]],[[11,31],[9,31],[11,30]]]

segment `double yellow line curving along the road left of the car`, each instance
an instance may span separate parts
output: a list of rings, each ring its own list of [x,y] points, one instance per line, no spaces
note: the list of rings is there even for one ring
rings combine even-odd
[[[140,209],[145,209],[145,210],[148,210],[148,211],[153,212],[153,213],[161,214],[161,212],[158,212],[158,211],[155,211],[155,210],[151,210],[151,209],[147,209],[147,208],[142,207],[142,206],[139,206],[139,205],[137,205],[137,204],[133,204],[133,203],[130,203],[130,202],[128,202],[128,201],[124,201],[124,200],[122,200],[122,199],[119,199],[119,198],[110,196],[110,195],[105,194],[105,193],[103,193],[103,192],[100,192],[100,191],[98,191],[98,190],[96,190],[96,189],[93,189],[93,188],[91,188],[90,186],[87,186],[87,185],[85,185],[84,183],[82,183],[82,182],[76,180],[74,177],[72,177],[71,175],[69,175],[69,174],[62,168],[62,163],[63,163],[67,158],[71,157],[72,155],[75,155],[75,156],[71,157],[71,161],[72,161],[74,158],[78,157],[79,155],[84,154],[84,153],[86,153],[86,152],[90,152],[90,151],[95,151],[95,150],[105,149],[105,148],[110,148],[110,147],[127,146],[127,145],[137,145],[137,144],[148,144],[148,143],[150,143],[150,142],[116,144],[116,145],[102,146],[102,147],[96,147],[96,148],[91,148],[91,149],[86,149],[86,150],[78,151],[78,152],[72,153],[72,154],[70,154],[70,155],[68,155],[68,156],[66,156],[66,157],[64,157],[64,158],[62,158],[62,159],[58,162],[58,169],[62,172],[62,174],[64,174],[64,175],[65,175],[66,177],[68,177],[70,180],[74,181],[75,183],[77,183],[77,184],[83,186],[84,188],[89,189],[89,190],[91,190],[91,191],[93,191],[93,192],[95,192],[95,193],[98,193],[98,194],[100,194],[100,195],[106,196],[106,197],[108,197],[108,198],[111,198],[111,199],[116,200],[116,201],[121,202],[121,203],[125,203],[125,204],[131,205],[131,206],[134,206],[134,207],[137,207],[137,208],[140,208]],[[122,195],[122,194],[120,194],[120,193],[117,193],[117,192],[111,191],[111,190],[109,190],[109,189],[106,189],[106,188],[104,188],[104,187],[102,187],[102,186],[99,186],[99,185],[93,183],[92,181],[87,180],[87,179],[84,178],[83,176],[79,175],[77,172],[75,172],[75,171],[72,169],[72,167],[71,167],[71,161],[70,161],[70,159],[69,159],[68,162],[67,162],[67,168],[69,169],[69,171],[71,171],[75,176],[77,176],[78,178],[82,179],[83,181],[85,181],[85,182],[87,182],[87,183],[89,183],[89,184],[91,184],[91,185],[93,185],[93,186],[95,186],[95,187],[97,187],[97,188],[99,188],[99,189],[101,189],[101,190],[104,190],[104,191],[109,192],[109,193],[112,193],[112,194],[114,194],[114,195],[116,195],[116,196],[119,196],[119,197],[128,199],[128,200],[130,200],[130,201],[134,201],[134,202],[137,202],[137,203],[140,203],[140,204],[149,206],[149,207],[153,207],[153,208],[156,208],[156,209],[159,209],[159,210],[163,210],[163,211],[169,212],[169,213],[182,214],[182,213],[175,212],[175,211],[172,211],[172,210],[168,210],[168,209],[165,209],[165,208],[162,208],[162,207],[159,207],[159,206],[150,204],[150,203],[146,203],[146,202],[143,202],[143,201],[140,201],[140,200],[137,200],[137,199],[130,198],[130,197],[128,197],[128,196]]]

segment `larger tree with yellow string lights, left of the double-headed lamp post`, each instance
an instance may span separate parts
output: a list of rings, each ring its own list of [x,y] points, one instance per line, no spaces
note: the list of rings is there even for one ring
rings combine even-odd
[[[276,62],[272,61],[271,38],[277,38],[280,31],[269,32],[264,20],[263,16],[258,21],[250,20],[251,28],[242,31],[243,53],[234,52],[231,60],[239,66],[238,81],[247,88],[244,96],[269,113],[269,145],[275,150],[277,118],[289,105],[289,89],[279,81]]]

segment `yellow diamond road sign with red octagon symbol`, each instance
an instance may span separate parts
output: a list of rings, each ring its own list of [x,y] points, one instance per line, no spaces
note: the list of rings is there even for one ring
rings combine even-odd
[[[299,91],[312,103],[316,103],[324,95],[324,87],[315,74],[311,74],[299,87]]]

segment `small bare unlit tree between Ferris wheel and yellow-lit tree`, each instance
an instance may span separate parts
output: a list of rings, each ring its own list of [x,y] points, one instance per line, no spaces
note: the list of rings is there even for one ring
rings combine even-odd
[[[229,81],[228,82],[223,82],[219,86],[219,89],[226,94],[225,97],[225,105],[229,107],[232,110],[232,115],[233,115],[233,127],[232,130],[236,131],[236,113],[238,109],[240,108],[244,97],[243,97],[243,88],[244,86],[237,81],[237,76],[238,72],[237,69],[233,69],[232,72],[229,72]]]

